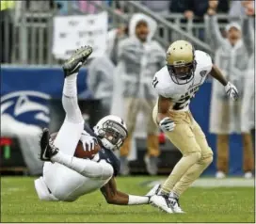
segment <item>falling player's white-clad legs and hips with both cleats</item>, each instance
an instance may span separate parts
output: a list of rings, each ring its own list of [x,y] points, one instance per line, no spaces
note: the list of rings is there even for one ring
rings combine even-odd
[[[100,184],[104,184],[112,176],[111,166],[100,163],[95,166],[97,163],[93,161],[72,156],[84,130],[84,119],[77,104],[76,78],[91,52],[90,47],[82,47],[63,65],[65,81],[62,104],[66,118],[54,142],[47,129],[40,138],[40,159],[53,162],[44,164],[43,176],[35,181],[41,200],[75,200],[76,195],[70,197],[70,191],[85,183],[85,177],[100,178],[103,180]]]

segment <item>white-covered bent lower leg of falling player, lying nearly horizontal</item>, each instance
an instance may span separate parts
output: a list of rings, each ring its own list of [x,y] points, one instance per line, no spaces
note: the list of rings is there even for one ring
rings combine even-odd
[[[51,160],[52,162],[71,168],[88,178],[99,178],[100,180],[104,180],[113,175],[113,168],[108,166],[108,164],[106,165],[106,163],[96,163],[88,159],[76,158],[60,151],[57,152]]]

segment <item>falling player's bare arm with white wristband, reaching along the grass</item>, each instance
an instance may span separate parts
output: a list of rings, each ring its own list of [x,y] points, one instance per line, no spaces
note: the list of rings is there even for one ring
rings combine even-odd
[[[122,193],[117,189],[115,178],[112,177],[110,181],[105,184],[101,191],[104,195],[105,200],[109,204],[118,205],[137,205],[137,204],[148,204],[150,202],[150,196],[136,196]]]

